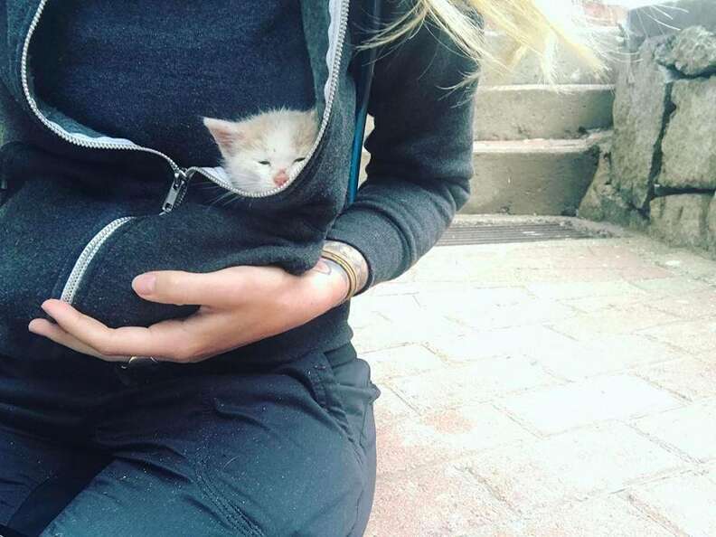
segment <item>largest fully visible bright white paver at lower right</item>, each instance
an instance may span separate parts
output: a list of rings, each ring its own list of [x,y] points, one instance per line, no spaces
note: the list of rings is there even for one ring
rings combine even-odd
[[[597,377],[506,397],[500,405],[544,434],[607,419],[643,416],[682,401],[634,376]]]

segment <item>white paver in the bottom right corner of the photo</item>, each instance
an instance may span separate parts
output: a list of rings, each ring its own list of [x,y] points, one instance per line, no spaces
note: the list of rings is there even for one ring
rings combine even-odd
[[[638,485],[627,497],[639,509],[689,537],[716,535],[716,484],[707,476],[683,474]]]

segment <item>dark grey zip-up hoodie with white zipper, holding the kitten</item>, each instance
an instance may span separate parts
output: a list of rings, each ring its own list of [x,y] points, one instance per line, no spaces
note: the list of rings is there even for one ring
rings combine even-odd
[[[321,118],[316,146],[284,187],[239,195],[222,207],[192,188],[201,177],[231,190],[221,167],[182,168],[151,147],[94,132],[37,98],[28,54],[48,1],[0,0],[0,184],[9,194],[0,212],[2,354],[58,352],[26,329],[42,316],[39,306],[48,297],[111,326],[149,325],[195,310],[137,297],[131,280],[148,270],[278,265],[300,274],[316,264],[328,238],[363,253],[369,285],[396,278],[466,202],[474,87],[448,88],[475,66],[435,27],[379,54],[369,101],[375,129],[366,143],[368,180],[348,206],[357,34],[350,22],[364,3],[301,0]],[[386,2],[384,19],[409,5]],[[229,354],[265,362],[330,350],[350,341],[347,315],[348,306],[339,306]]]

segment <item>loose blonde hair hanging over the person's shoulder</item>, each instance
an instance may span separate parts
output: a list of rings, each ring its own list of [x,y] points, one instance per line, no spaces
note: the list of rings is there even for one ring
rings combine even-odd
[[[555,44],[563,42],[581,56],[595,73],[606,71],[606,52],[577,0],[411,0],[410,9],[383,28],[370,42],[378,46],[410,35],[429,20],[445,32],[476,62],[492,61],[509,71],[528,52],[537,54],[545,80],[555,75]],[[511,46],[496,56],[485,47],[485,32],[474,16],[481,15],[488,28],[504,33]],[[466,81],[475,79],[472,73]]]

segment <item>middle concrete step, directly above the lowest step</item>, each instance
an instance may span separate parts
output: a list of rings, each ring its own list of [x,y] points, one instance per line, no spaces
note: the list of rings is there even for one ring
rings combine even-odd
[[[477,89],[476,140],[576,138],[612,123],[614,87],[523,84]]]

